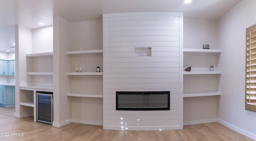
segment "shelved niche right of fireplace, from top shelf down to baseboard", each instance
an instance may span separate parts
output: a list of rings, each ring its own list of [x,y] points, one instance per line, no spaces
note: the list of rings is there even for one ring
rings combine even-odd
[[[183,71],[184,125],[216,121],[218,91],[221,70],[218,60],[221,50],[183,49],[183,68],[191,66],[191,71]],[[210,71],[214,66],[214,71]],[[202,111],[207,116],[202,115]],[[208,111],[213,111],[208,113]],[[188,117],[189,112],[196,115]]]

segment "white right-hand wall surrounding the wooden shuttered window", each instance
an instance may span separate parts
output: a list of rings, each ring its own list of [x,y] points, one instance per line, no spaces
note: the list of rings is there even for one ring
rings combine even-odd
[[[218,21],[220,107],[218,121],[256,139],[256,112],[245,110],[246,28],[256,23],[256,1],[242,0]]]

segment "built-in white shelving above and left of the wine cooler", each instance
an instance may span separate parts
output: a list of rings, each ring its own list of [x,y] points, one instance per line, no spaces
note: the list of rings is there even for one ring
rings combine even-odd
[[[53,52],[26,54],[26,82],[20,82],[20,105],[33,108],[36,121],[36,91],[53,92]],[[31,115],[30,115],[31,116]]]

